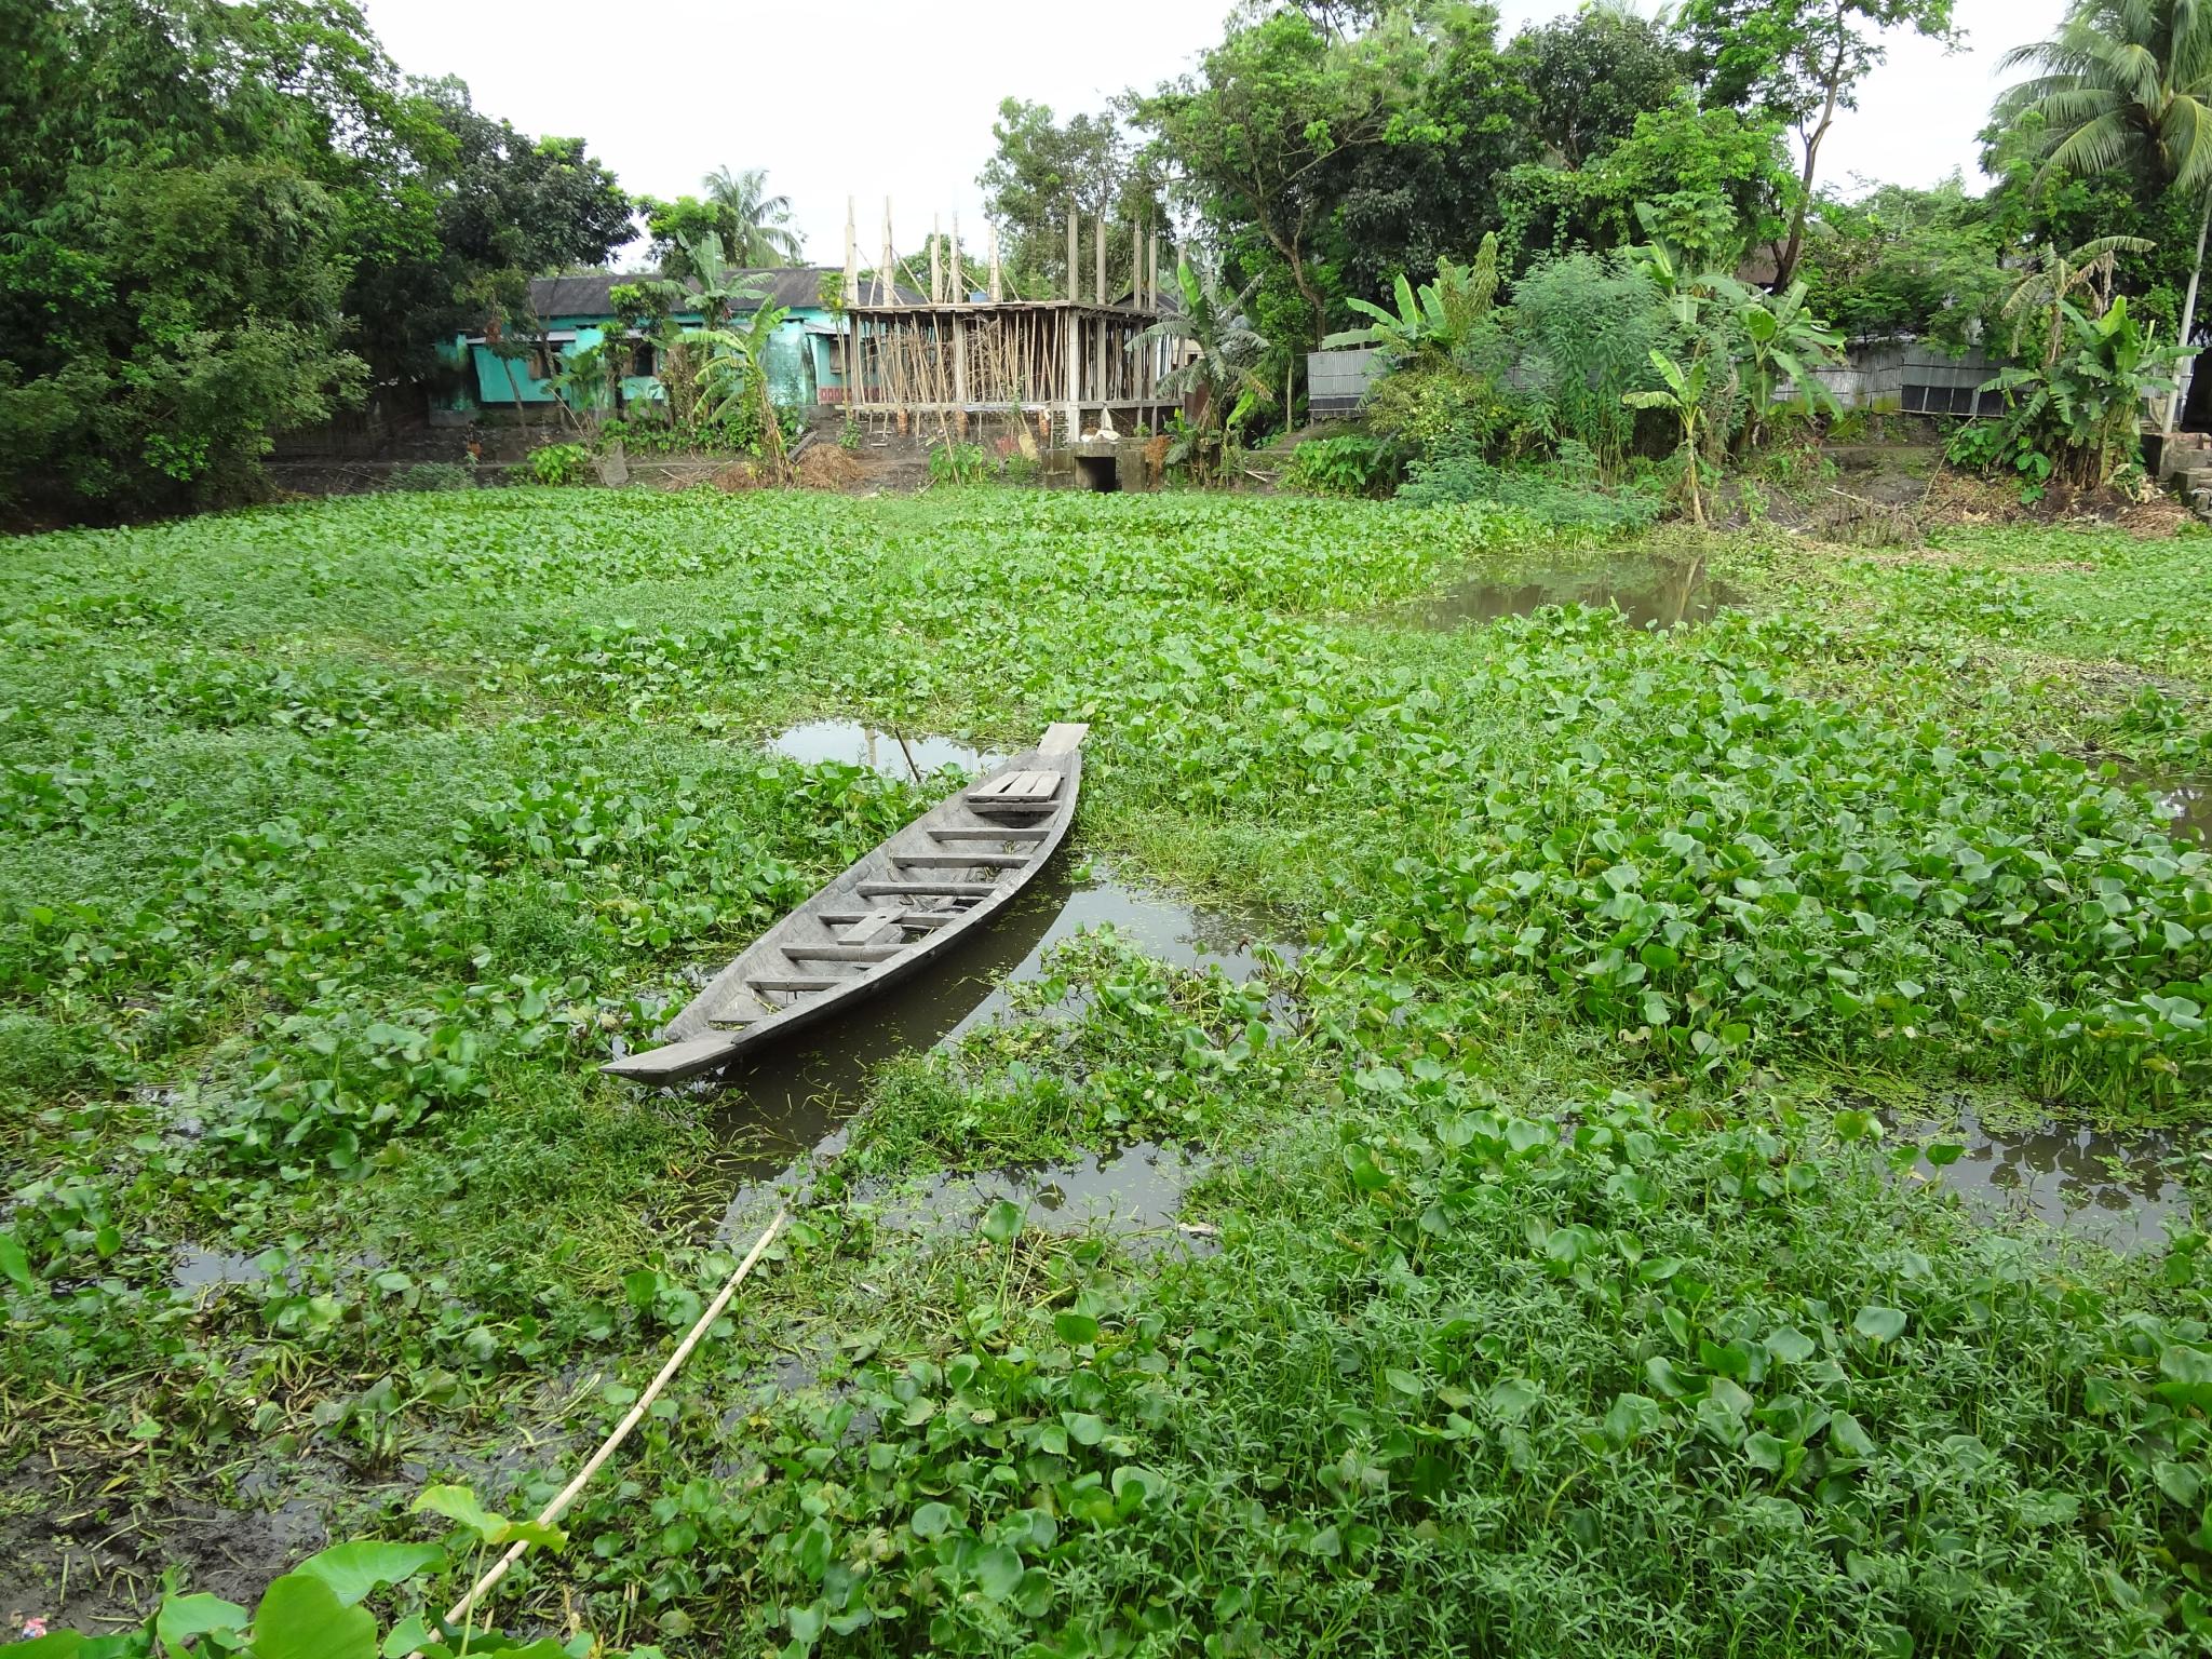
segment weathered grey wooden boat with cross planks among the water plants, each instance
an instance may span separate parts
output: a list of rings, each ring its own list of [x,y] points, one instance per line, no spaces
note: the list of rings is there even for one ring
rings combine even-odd
[[[987,927],[1044,869],[1075,821],[1088,726],[942,801],[754,940],[670,1020],[661,1046],[602,1071],[670,1084],[730,1064],[920,973]]]

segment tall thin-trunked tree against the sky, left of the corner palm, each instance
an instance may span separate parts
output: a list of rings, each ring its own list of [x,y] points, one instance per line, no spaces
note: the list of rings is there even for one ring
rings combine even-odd
[[[1787,288],[1836,113],[1858,102],[1858,84],[1889,55],[1882,35],[1907,29],[1955,44],[1951,0],[1683,0],[1677,20],[1708,106],[1750,108],[1796,128],[1796,204],[1774,261]]]

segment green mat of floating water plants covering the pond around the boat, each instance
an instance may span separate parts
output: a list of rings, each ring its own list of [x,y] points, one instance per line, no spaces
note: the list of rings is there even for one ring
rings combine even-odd
[[[1093,938],[883,1073],[511,1626],[2188,1650],[2201,1237],[1982,1228],[1863,1104],[2201,1117],[2212,867],[2143,787],[2212,770],[2201,549],[1655,538],[1743,604],[1436,633],[1469,566],[1619,549],[998,491],[18,542],[0,1604],[250,1601],[288,1500],[557,1486],[730,1265],[728,1102],[593,1062],[942,787],[761,739],[1086,719],[1082,854],[1303,953]],[[1206,1170],[1172,1248],[896,1221],[1130,1141]]]

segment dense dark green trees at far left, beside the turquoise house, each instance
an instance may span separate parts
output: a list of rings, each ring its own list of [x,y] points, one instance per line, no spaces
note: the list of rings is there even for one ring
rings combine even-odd
[[[234,498],[272,431],[628,234],[582,142],[403,86],[352,4],[31,0],[0,31],[0,504]]]

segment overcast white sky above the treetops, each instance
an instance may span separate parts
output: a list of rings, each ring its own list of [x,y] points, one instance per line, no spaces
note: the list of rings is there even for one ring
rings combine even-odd
[[[1504,33],[1568,7],[1504,0]],[[1823,150],[1823,177],[1933,184],[1978,177],[1975,142],[2006,46],[2048,35],[2064,0],[1958,0],[1966,51],[1898,40]],[[765,166],[792,197],[807,257],[860,248],[891,197],[900,248],[931,215],[982,230],[975,173],[1002,97],[1093,111],[1186,69],[1221,38],[1223,0],[843,0],[830,7],[655,0],[630,24],[602,0],[367,0],[369,24],[416,75],[453,73],[476,106],[526,133],[582,133],[624,188],[681,195],[712,166]]]

